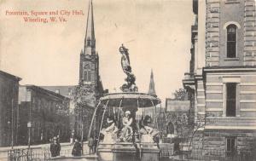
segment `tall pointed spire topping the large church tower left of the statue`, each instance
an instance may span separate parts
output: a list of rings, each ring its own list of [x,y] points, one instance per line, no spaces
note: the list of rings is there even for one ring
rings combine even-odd
[[[84,55],[95,55],[96,39],[94,32],[93,5],[92,0],[89,2],[87,25],[84,38]]]

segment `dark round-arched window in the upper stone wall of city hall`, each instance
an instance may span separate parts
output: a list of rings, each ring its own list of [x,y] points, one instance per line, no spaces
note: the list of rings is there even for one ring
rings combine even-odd
[[[236,25],[227,26],[227,57],[236,58]]]

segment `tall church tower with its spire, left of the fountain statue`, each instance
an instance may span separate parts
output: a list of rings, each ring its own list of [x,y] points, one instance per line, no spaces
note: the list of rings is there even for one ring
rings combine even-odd
[[[84,49],[80,53],[79,88],[84,89],[84,95],[80,95],[81,101],[96,106],[95,101],[101,96],[103,89],[99,75],[99,56],[96,53],[92,2],[89,3]]]

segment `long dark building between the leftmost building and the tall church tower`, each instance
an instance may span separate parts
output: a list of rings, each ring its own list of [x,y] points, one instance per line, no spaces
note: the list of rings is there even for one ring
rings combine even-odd
[[[19,89],[18,143],[27,145],[31,122],[31,144],[47,143],[54,136],[68,141],[70,99],[34,85],[22,85]]]

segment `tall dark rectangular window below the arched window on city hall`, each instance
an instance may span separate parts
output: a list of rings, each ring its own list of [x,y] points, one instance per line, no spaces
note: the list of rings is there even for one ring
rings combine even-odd
[[[236,83],[227,83],[226,116],[236,117]]]

